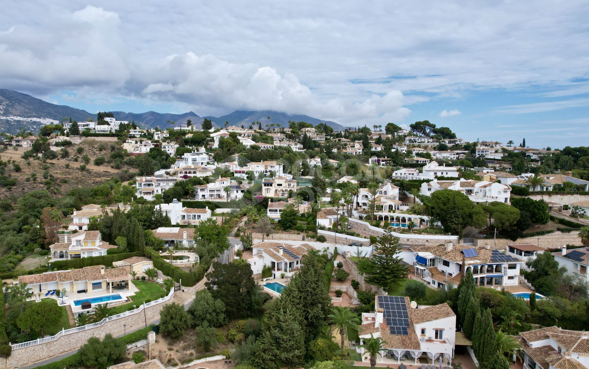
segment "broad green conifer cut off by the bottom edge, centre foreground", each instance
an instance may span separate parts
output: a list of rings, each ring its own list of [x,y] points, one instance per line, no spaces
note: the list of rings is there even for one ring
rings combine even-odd
[[[302,366],[305,359],[305,335],[298,315],[292,307],[275,300],[264,320],[264,333],[257,341],[254,366],[262,369]]]

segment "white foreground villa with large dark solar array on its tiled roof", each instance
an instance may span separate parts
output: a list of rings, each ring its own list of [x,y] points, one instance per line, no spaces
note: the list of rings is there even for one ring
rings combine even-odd
[[[376,355],[382,364],[436,364],[442,358],[449,365],[454,356],[456,314],[448,304],[417,306],[406,296],[375,297],[375,311],[362,313],[360,340],[382,338],[383,351]],[[357,347],[362,361],[370,354]]]

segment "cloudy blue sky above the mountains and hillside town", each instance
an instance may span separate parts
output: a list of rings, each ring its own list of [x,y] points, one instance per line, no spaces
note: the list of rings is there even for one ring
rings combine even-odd
[[[589,2],[5,0],[0,88],[85,109],[277,110],[589,146]]]

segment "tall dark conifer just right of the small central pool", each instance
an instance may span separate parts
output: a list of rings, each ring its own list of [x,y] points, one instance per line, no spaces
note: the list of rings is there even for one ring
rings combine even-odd
[[[306,341],[314,337],[330,311],[331,297],[325,285],[323,270],[314,256],[306,256],[305,264],[289,283],[280,298],[284,305],[298,311]]]

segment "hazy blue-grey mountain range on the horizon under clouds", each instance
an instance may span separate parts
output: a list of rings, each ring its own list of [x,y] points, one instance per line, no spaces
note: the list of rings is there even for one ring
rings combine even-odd
[[[194,112],[187,112],[183,114],[171,113],[125,113],[112,112],[117,120],[135,121],[141,128],[167,128],[170,126],[168,120],[176,122],[176,125],[186,125],[186,120],[191,119],[192,124],[200,128],[200,123],[204,118],[210,119],[213,125],[217,128],[222,128],[225,122],[229,122],[230,126],[241,126],[247,128],[252,125],[252,122],[261,122],[262,127],[267,125],[280,123],[281,126],[287,127],[289,120],[295,122],[307,122],[312,125],[319,123],[326,123],[326,125],[336,130],[342,130],[344,127],[336,122],[329,120],[321,120],[307,115],[300,114],[286,114],[282,112],[275,112],[273,110],[236,110],[228,115],[219,117],[214,116],[198,116]],[[34,98],[26,93],[21,93],[13,90],[0,89],[0,130],[7,133],[15,133],[26,128],[27,130],[37,131],[42,125],[51,123],[51,120],[61,120],[64,118],[72,118],[78,122],[96,119],[96,115],[87,112],[86,110],[71,108],[67,105],[55,105],[41,99]],[[270,119],[267,119],[270,117]]]

